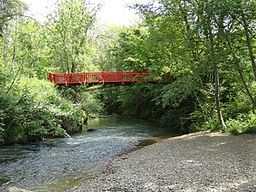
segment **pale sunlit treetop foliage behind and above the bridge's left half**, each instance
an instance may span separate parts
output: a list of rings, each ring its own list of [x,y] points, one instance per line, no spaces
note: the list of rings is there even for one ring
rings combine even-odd
[[[92,34],[98,9],[85,0],[61,0],[45,23],[12,18],[0,38],[4,67],[13,75],[20,68],[20,73],[38,79],[47,73],[96,70]]]

